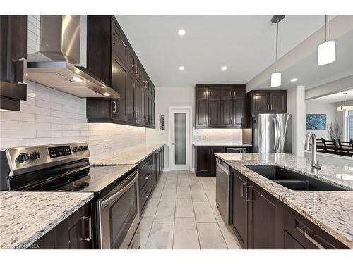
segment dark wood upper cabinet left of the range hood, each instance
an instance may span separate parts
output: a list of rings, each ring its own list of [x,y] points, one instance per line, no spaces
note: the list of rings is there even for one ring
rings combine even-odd
[[[27,100],[27,15],[0,15],[0,106],[20,111]]]

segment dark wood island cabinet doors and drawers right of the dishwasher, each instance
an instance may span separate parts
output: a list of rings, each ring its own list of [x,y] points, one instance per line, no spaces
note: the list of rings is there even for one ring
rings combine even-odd
[[[230,181],[230,223],[243,249],[348,249],[234,168]]]

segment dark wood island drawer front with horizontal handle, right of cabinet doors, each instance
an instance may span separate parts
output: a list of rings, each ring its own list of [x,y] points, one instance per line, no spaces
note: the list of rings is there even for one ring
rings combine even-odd
[[[285,230],[305,249],[348,249],[288,206],[285,207]]]

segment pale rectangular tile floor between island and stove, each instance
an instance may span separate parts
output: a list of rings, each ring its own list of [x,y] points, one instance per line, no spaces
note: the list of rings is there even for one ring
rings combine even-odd
[[[215,203],[215,177],[164,172],[141,219],[141,249],[240,249]]]

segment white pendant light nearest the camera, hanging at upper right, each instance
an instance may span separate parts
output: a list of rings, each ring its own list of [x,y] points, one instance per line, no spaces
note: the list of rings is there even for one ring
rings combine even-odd
[[[325,65],[336,60],[336,42],[328,41],[328,15],[325,15],[325,42],[318,45],[318,65]]]

